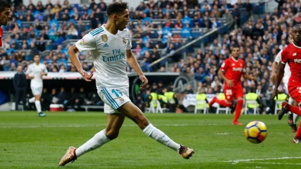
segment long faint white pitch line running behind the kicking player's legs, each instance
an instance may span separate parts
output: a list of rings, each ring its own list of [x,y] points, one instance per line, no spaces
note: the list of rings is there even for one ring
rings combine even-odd
[[[70,127],[101,127],[107,124],[69,124],[69,125],[33,125],[33,126],[0,126],[0,128],[70,128]],[[218,126],[228,124],[154,124],[154,126]],[[137,127],[136,124],[124,124],[123,127]]]

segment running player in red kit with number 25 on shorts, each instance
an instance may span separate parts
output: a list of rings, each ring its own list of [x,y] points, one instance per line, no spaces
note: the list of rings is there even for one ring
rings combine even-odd
[[[219,69],[219,76],[221,76],[225,81],[224,94],[226,100],[219,100],[216,97],[213,97],[213,99],[209,103],[209,106],[212,106],[213,103],[219,103],[219,105],[221,106],[230,107],[232,105],[232,99],[234,97],[234,99],[237,100],[237,105],[235,108],[234,119],[232,121],[233,125],[242,125],[242,123],[238,121],[244,103],[244,93],[240,81],[241,75],[249,80],[256,80],[256,77],[247,75],[244,69],[244,60],[239,59],[238,56],[239,47],[234,46],[232,48],[231,58],[226,59],[225,62],[222,63],[221,69]]]

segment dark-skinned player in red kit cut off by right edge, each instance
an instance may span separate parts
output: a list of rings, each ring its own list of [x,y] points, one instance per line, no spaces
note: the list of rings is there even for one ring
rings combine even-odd
[[[281,120],[283,115],[289,111],[301,115],[301,25],[296,25],[293,27],[291,32],[293,38],[293,43],[288,45],[281,53],[281,63],[279,63],[279,71],[276,77],[276,86],[273,91],[271,99],[278,96],[278,86],[281,83],[285,64],[288,63],[291,70],[291,76],[288,81],[288,93],[292,97],[296,105],[292,106],[287,102],[282,103],[282,109],[278,114],[278,119]],[[301,143],[301,128],[299,127],[295,137],[293,138],[293,143]]]

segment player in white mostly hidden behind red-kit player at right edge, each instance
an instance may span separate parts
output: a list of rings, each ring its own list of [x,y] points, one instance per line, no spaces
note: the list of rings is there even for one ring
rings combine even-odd
[[[289,38],[289,42],[292,43],[293,42],[293,39]],[[275,61],[273,62],[273,65],[272,65],[272,76],[271,76],[271,79],[272,81],[275,81],[275,78],[276,78],[276,69],[277,69],[277,65],[279,64],[279,62],[281,61],[281,52],[283,50],[279,51],[276,58],[275,58]],[[284,75],[283,75],[283,84],[284,84],[284,90],[285,90],[285,93],[288,94],[288,80],[290,78],[290,75],[291,75],[291,71],[290,71],[290,66],[288,65],[288,63],[285,64],[285,67],[284,67]],[[288,103],[289,104],[294,104],[295,101],[293,100],[292,97],[289,97],[289,100],[288,100]],[[292,116],[293,116],[293,119],[292,119]],[[296,132],[297,131],[297,125],[296,125],[296,122],[298,120],[298,115],[296,115],[295,113],[291,113],[289,112],[289,115],[288,115],[288,124],[292,127],[292,131],[293,132]]]

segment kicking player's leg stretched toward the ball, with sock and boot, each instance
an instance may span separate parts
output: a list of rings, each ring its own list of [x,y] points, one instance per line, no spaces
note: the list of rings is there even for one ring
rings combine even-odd
[[[118,111],[134,121],[147,136],[152,137],[157,142],[177,151],[183,158],[189,159],[194,153],[193,149],[175,143],[166,134],[155,128],[143,115],[141,110],[132,102],[125,103]]]

